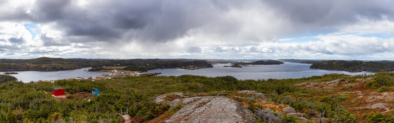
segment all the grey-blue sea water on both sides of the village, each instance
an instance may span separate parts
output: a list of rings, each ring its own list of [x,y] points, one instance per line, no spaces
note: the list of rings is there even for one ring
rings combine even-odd
[[[234,76],[237,79],[283,79],[283,78],[302,78],[314,75],[324,75],[330,73],[343,73],[349,75],[357,74],[374,74],[374,72],[346,72],[346,71],[332,71],[332,70],[320,70],[320,69],[309,69],[311,64],[300,64],[300,63],[287,63],[282,65],[254,65],[244,66],[242,68],[225,68],[223,66],[230,66],[230,64],[217,64],[214,68],[204,68],[198,70],[185,70],[185,69],[157,69],[150,70],[144,73],[150,72],[161,72],[159,76],[179,76],[185,74],[202,75],[208,77],[217,76]],[[76,70],[66,71],[14,71],[19,74],[12,74],[18,80],[22,80],[24,83],[38,80],[57,80],[67,79],[75,77],[100,76],[102,74],[108,74],[108,72],[89,72],[84,71],[89,68],[81,68]],[[5,72],[0,72],[3,74]]]

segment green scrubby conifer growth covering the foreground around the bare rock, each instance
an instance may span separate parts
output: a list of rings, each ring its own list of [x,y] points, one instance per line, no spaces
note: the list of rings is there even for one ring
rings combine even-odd
[[[57,80],[55,83],[23,83],[11,80],[0,84],[0,120],[8,122],[122,122],[119,113],[128,111],[135,122],[143,122],[165,112],[179,110],[179,107],[152,103],[152,99],[161,94],[183,92],[216,95],[216,92],[223,90],[230,92],[254,90],[271,98],[268,101],[290,105],[297,112],[310,116],[324,112],[324,117],[330,118],[330,121],[356,122],[356,117],[366,120],[367,116],[356,116],[343,108],[349,95],[335,94],[330,89],[302,88],[294,84],[323,83],[336,79],[354,81],[357,78],[367,77],[375,78],[364,88],[394,85],[394,74],[387,72],[376,75],[327,74],[299,79],[266,80],[237,80],[232,76],[193,75],[138,76],[97,81]],[[68,97],[55,99],[50,93],[52,87],[65,89]],[[92,88],[99,89],[100,95],[94,96],[90,101],[83,100],[87,96],[78,96],[82,92],[91,92]],[[388,115],[382,115],[380,118],[391,120]]]

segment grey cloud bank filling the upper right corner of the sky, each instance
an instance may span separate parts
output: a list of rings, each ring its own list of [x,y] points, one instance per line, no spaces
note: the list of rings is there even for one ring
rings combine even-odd
[[[279,16],[289,17],[292,22],[332,26],[336,24],[354,23],[357,17],[372,20],[387,16],[393,19],[394,1],[262,1],[278,11]]]

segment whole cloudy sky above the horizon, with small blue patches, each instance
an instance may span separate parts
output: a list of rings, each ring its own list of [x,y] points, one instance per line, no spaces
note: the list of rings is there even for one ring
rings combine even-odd
[[[0,58],[394,60],[394,1],[0,0]]]

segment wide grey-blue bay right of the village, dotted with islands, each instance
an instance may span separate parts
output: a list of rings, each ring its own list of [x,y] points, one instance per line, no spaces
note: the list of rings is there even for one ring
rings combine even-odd
[[[374,74],[374,72],[346,72],[346,71],[331,71],[320,69],[309,69],[311,64],[287,63],[282,65],[255,65],[246,66],[242,68],[225,68],[223,66],[230,66],[230,64],[214,65],[214,68],[205,68],[198,70],[184,70],[184,69],[158,69],[150,70],[148,72],[161,72],[160,76],[179,76],[184,74],[202,75],[209,77],[217,76],[234,76],[237,79],[282,79],[282,78],[302,78],[314,75],[324,75],[330,73],[344,73],[349,75],[357,74]]]

